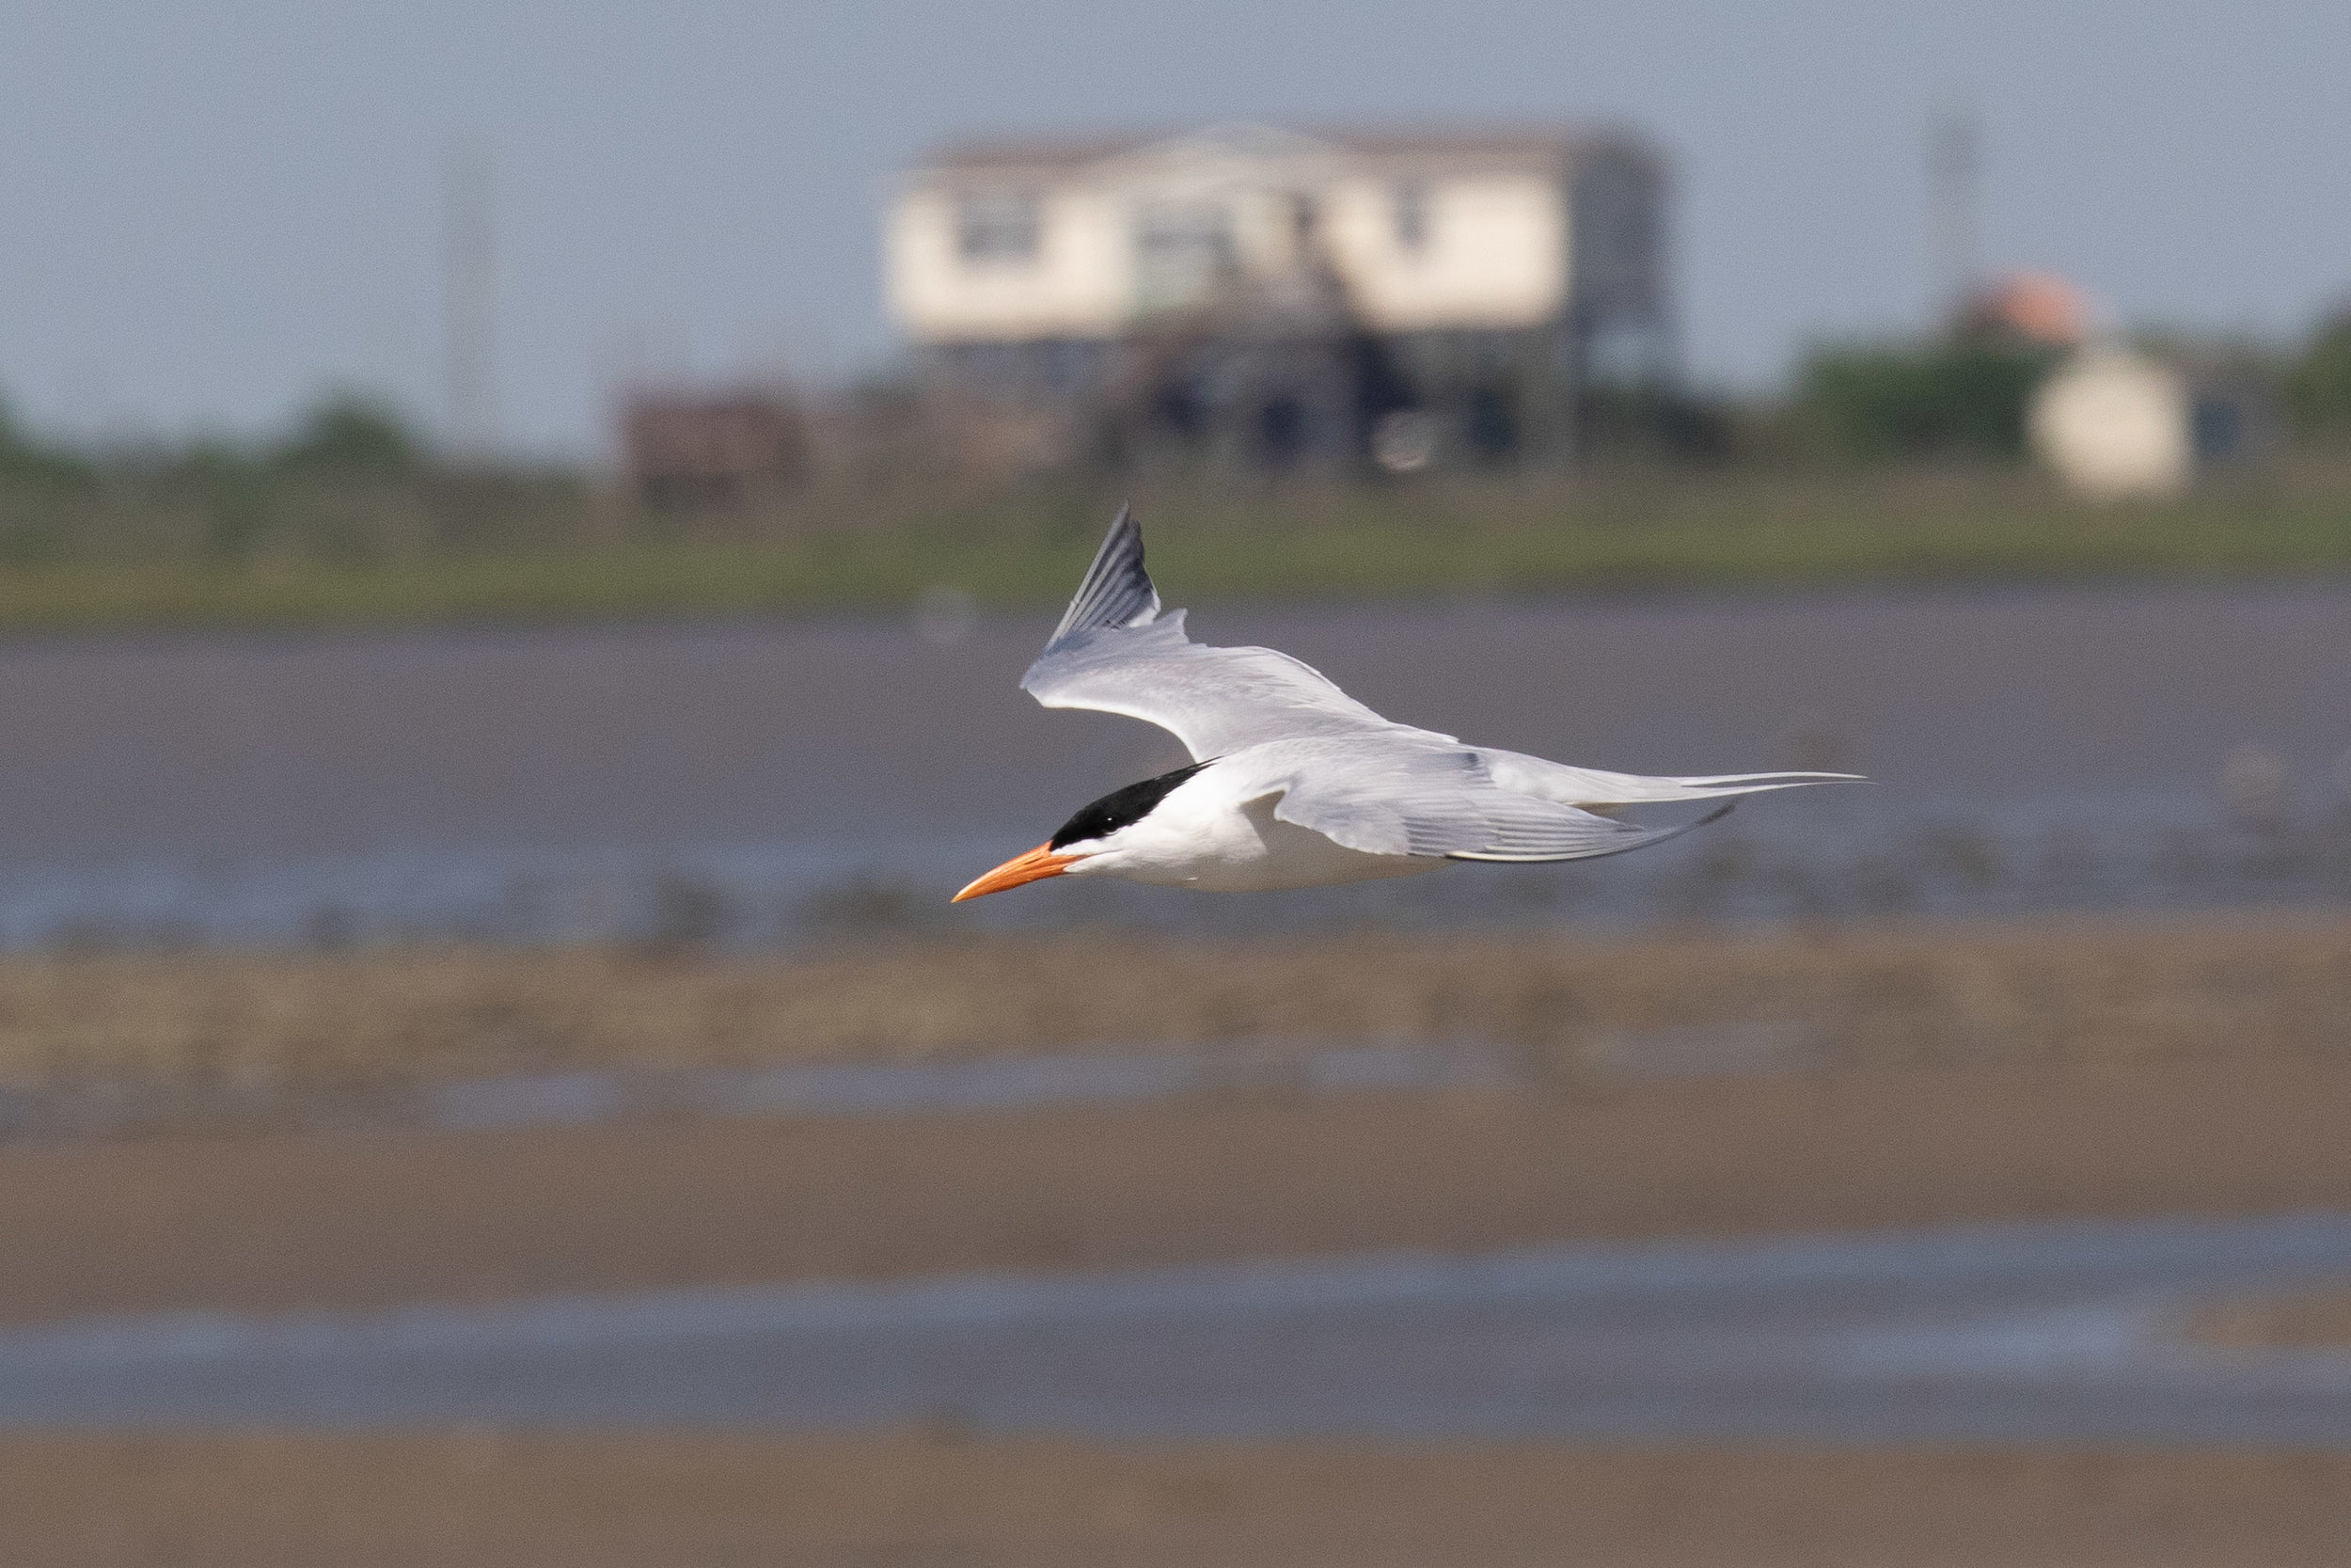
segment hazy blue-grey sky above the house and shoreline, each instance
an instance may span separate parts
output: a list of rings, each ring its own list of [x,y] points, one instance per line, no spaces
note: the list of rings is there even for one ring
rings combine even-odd
[[[1925,315],[1921,136],[1984,125],[1984,254],[2128,322],[2351,289],[2351,7],[1446,0],[0,0],[0,393],[54,433],[437,416],[449,148],[494,148],[510,444],[632,367],[891,353],[891,172],[971,132],[1615,118],[1676,160],[1693,369]]]

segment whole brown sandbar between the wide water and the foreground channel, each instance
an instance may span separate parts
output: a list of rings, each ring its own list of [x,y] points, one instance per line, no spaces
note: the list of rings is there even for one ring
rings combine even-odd
[[[2351,1208],[2351,922],[19,959],[19,1084],[1502,1039],[1491,1088],[0,1145],[0,1321]],[[1154,1030],[1154,1032],[1147,1032]]]

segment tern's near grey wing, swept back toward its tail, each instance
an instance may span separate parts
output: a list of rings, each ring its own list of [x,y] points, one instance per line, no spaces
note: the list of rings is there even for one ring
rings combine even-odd
[[[1531,863],[1592,860],[1662,844],[1721,820],[1737,804],[1672,827],[1641,827],[1505,790],[1472,748],[1404,743],[1380,750],[1385,755],[1300,748],[1274,783],[1274,818],[1373,856]]]

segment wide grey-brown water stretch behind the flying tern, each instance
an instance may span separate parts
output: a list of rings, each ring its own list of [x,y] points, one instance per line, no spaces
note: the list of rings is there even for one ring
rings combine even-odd
[[[1180,759],[1041,712],[1046,618],[0,644],[0,945],[1458,926],[2351,893],[2351,585],[1223,607],[1399,719],[1634,771],[1850,766],[1620,860],[947,910]]]

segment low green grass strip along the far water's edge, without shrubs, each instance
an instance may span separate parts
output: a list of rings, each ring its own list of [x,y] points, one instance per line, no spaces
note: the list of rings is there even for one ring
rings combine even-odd
[[[696,618],[903,609],[955,588],[1046,607],[1112,494],[802,496],[698,522],[468,548],[0,564],[0,632]],[[2290,470],[2085,508],[2031,475],[1615,475],[1396,489],[1140,489],[1183,599],[2351,574],[2351,482]]]

